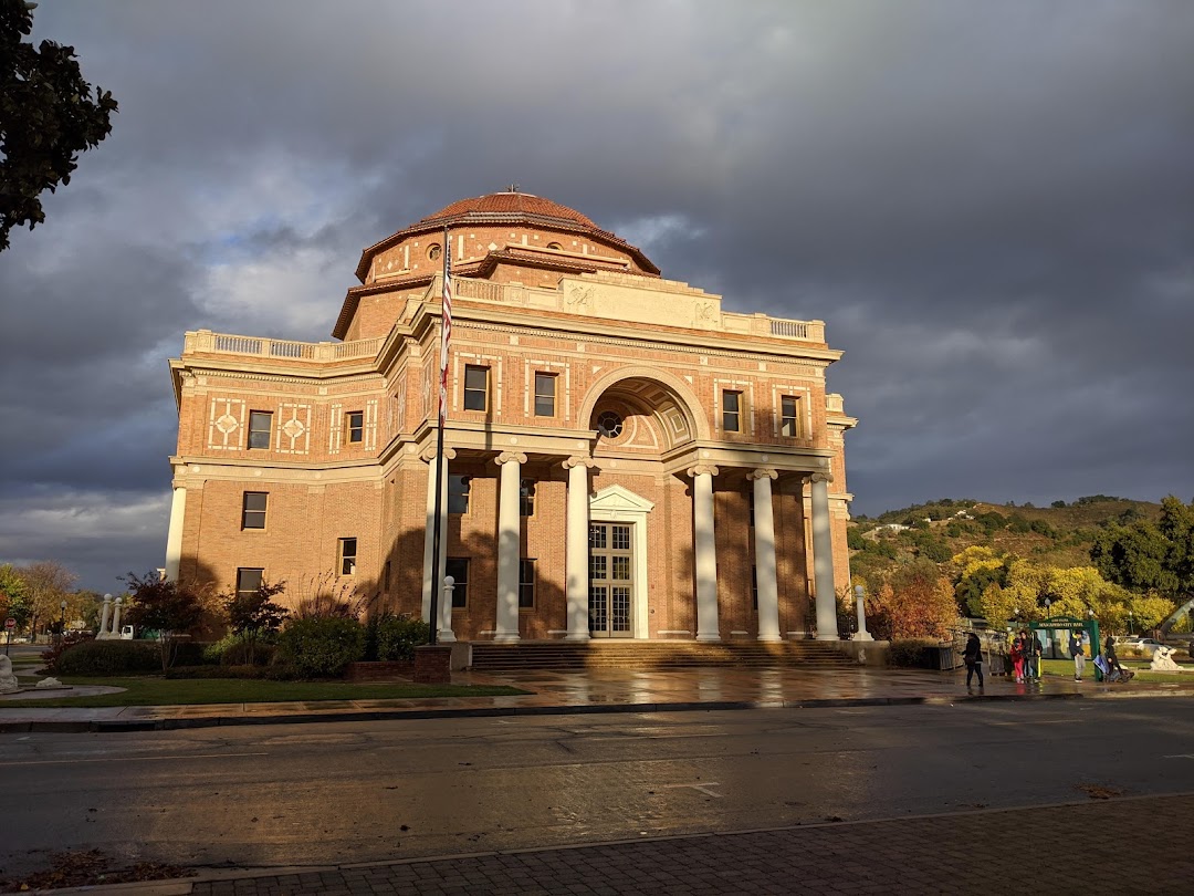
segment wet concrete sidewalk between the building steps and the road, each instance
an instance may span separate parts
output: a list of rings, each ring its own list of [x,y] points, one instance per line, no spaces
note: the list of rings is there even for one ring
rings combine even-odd
[[[1018,685],[987,677],[967,689],[965,671],[874,669],[813,671],[788,669],[697,668],[667,670],[599,669],[585,673],[524,671],[509,675],[456,673],[454,685],[512,685],[531,693],[517,696],[411,700],[338,700],[195,706],[117,706],[103,708],[21,707],[0,702],[0,732],[152,731],[220,725],[373,722],[399,718],[666,712],[685,710],[812,708],[845,705],[938,704],[965,700],[1039,700],[1125,696],[1194,696],[1194,675],[1173,683],[1082,683],[1047,677]],[[43,696],[43,695],[37,695]]]

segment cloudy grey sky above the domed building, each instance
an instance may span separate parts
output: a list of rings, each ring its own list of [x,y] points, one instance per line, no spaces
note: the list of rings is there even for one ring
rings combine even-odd
[[[1194,4],[41,0],[112,134],[0,253],[0,561],[161,566],[186,330],[328,339],[517,183],[826,323],[854,513],[1194,499]]]

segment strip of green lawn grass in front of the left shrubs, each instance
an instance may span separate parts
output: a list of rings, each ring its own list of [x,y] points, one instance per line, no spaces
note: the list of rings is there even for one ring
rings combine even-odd
[[[401,700],[435,696],[507,696],[529,692],[504,685],[352,683],[346,681],[260,681],[254,679],[74,677],[63,685],[107,685],[116,694],[57,696],[5,704],[54,706],[189,706],[195,704],[272,704],[321,700]],[[2,708],[0,708],[2,713]]]

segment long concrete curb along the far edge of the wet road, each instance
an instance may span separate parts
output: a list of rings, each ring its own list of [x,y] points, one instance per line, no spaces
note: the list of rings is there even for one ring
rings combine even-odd
[[[1132,696],[1182,696],[1174,692],[1138,693]],[[733,710],[826,710],[847,706],[952,706],[966,702],[1029,702],[1036,700],[1079,700],[1119,698],[1120,694],[959,694],[949,696],[861,696],[813,700],[709,700],[642,704],[577,704],[559,706],[486,706],[475,708],[423,708],[345,712],[303,712],[271,716],[208,716],[203,718],[160,719],[44,719],[0,722],[0,734],[127,734],[136,731],[177,731],[196,728],[234,728],[239,725],[303,725],[337,722],[396,722],[400,719],[462,719],[509,716],[597,716],[645,712],[721,712]],[[1126,694],[1122,696],[1127,696]]]

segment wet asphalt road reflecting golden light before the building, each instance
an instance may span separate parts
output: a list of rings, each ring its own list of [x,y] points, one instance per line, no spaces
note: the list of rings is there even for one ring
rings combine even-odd
[[[0,735],[0,874],[315,865],[1194,792],[1194,701]]]

